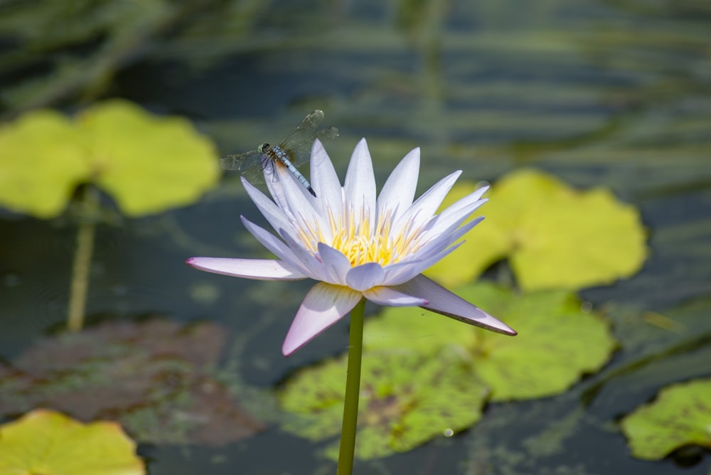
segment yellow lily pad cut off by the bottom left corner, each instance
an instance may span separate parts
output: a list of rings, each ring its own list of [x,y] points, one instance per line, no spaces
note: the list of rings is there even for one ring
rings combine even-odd
[[[116,422],[82,424],[38,409],[0,426],[2,474],[143,475],[135,452]]]

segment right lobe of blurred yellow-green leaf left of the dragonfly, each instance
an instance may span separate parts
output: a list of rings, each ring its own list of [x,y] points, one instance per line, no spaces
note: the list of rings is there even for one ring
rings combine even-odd
[[[97,184],[129,216],[193,203],[218,179],[212,144],[186,119],[114,100],[86,110],[79,125],[91,140]]]

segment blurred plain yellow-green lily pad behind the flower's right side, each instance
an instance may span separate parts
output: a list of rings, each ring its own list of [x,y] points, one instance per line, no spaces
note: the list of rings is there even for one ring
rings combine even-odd
[[[461,184],[454,202],[476,187]],[[514,171],[488,193],[481,225],[427,274],[447,286],[470,282],[505,257],[521,289],[581,289],[634,275],[647,250],[638,210],[606,188],[576,191],[540,171]]]

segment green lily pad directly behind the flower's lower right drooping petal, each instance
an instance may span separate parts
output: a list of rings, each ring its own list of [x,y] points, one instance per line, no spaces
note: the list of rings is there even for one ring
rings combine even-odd
[[[602,368],[616,346],[603,319],[581,309],[565,290],[515,295],[493,284],[456,289],[467,301],[506,321],[518,336],[502,336],[408,307],[391,307],[365,325],[368,351],[403,348],[423,356],[442,348],[466,355],[491,400],[562,393],[581,375]]]

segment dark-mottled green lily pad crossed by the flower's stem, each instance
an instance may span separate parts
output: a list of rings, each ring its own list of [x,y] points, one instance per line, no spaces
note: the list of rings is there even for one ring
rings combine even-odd
[[[346,358],[306,368],[280,395],[292,413],[284,429],[312,440],[340,433]],[[358,407],[359,459],[406,452],[428,440],[451,435],[481,417],[488,390],[454,353],[422,358],[409,351],[368,353]],[[338,459],[338,442],[324,454]]]

